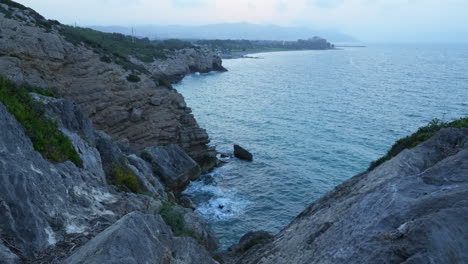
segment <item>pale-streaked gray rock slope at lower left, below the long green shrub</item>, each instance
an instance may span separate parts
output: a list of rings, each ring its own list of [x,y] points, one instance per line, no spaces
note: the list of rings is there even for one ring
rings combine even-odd
[[[57,102],[50,99],[49,103]],[[46,109],[52,108],[46,105]],[[161,201],[146,195],[116,193],[107,185],[100,153],[80,136],[91,135],[86,132],[89,120],[72,122],[81,124],[74,127],[66,125],[70,113],[63,113],[63,119],[52,117],[59,118],[59,128],[71,139],[83,168],[70,161],[44,160],[22,126],[0,103],[0,241],[8,241],[15,254],[32,263],[52,263],[122,215],[132,211],[156,213],[162,206]],[[98,142],[99,138],[108,138],[102,132],[93,131],[92,135],[98,135]],[[128,159],[138,175],[152,175],[148,163],[131,155]],[[163,187],[158,184],[152,186],[164,199]],[[0,254],[4,259],[10,256],[3,246]]]

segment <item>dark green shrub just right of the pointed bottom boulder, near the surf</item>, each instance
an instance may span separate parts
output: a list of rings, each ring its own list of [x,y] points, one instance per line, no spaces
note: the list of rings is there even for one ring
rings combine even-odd
[[[185,226],[183,214],[176,211],[170,203],[164,202],[159,214],[164,219],[164,222],[171,227],[172,233],[175,236],[193,237],[200,244],[203,244],[203,238]]]

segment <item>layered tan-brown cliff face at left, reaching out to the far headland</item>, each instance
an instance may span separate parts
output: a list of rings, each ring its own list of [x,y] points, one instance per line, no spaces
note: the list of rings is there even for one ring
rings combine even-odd
[[[113,139],[128,141],[137,149],[178,144],[203,170],[213,167],[215,151],[208,147],[206,131],[175,89],[158,86],[157,76],[184,76],[192,70],[222,67],[219,58],[202,50],[178,51],[165,61],[145,65],[151,74],[129,82],[131,73],[101,58],[103,50],[73,45],[60,34],[36,23],[46,20],[33,10],[0,4],[12,12],[0,12],[0,74],[18,83],[54,88],[59,95],[81,106],[94,126]],[[18,19],[22,17],[23,19]],[[141,64],[141,63],[140,63]],[[188,70],[187,70],[188,69]]]

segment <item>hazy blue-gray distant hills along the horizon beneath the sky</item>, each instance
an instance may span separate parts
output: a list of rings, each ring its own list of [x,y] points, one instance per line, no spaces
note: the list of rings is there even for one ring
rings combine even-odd
[[[91,26],[91,28],[104,32],[131,33],[130,27]],[[223,23],[203,26],[141,25],[135,26],[134,31],[137,36],[162,39],[297,40],[319,36],[331,42],[358,41],[352,36],[335,31],[249,23]]]

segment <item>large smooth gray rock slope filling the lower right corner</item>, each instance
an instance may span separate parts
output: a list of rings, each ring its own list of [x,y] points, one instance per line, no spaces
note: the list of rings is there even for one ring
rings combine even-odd
[[[467,263],[468,129],[447,128],[227,263]]]

